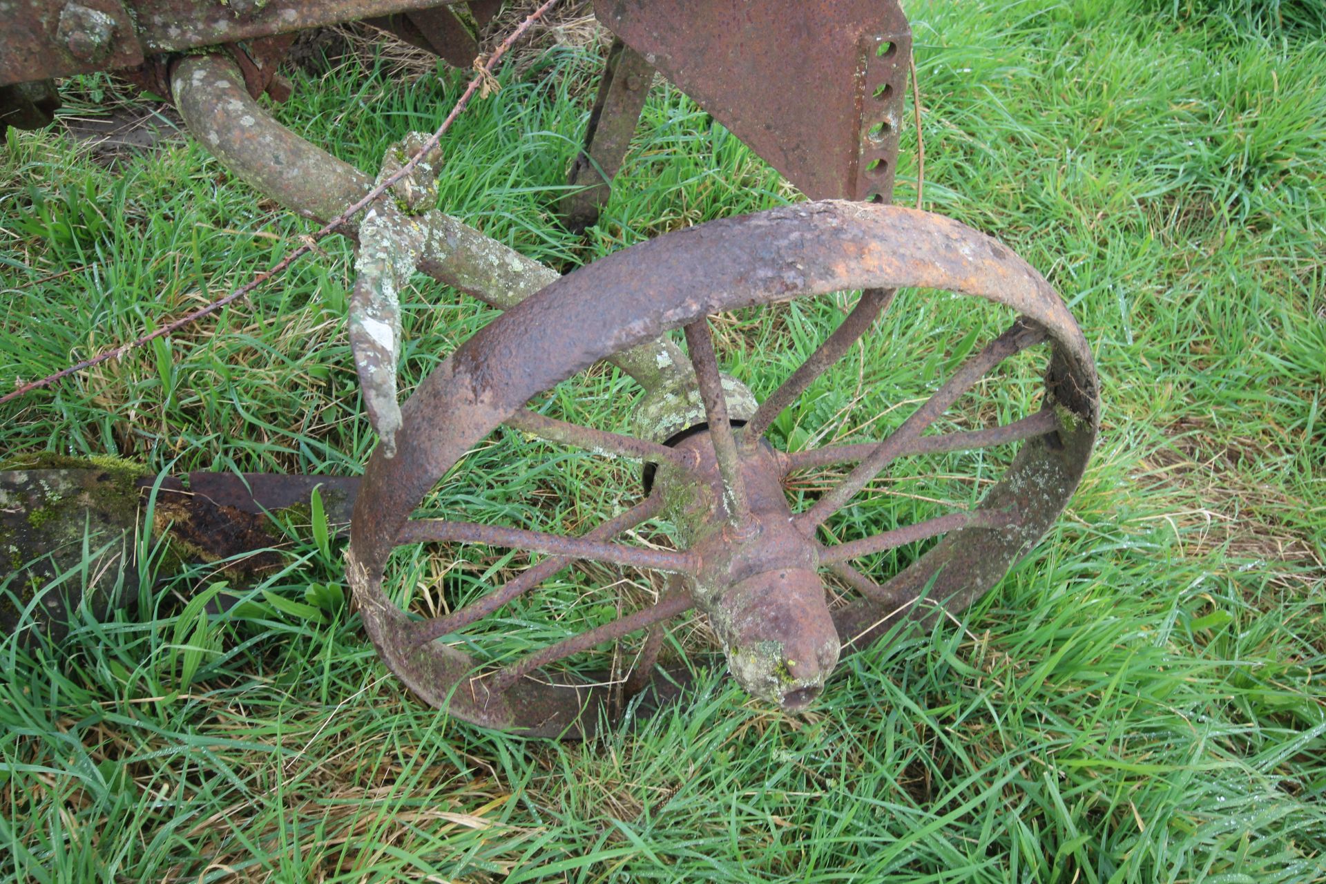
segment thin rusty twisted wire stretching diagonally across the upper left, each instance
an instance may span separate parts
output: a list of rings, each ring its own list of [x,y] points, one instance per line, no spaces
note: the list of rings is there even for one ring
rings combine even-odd
[[[507,34],[507,38],[503,40],[501,44],[499,44],[496,49],[493,49],[492,54],[488,56],[487,61],[484,61],[481,66],[477,64],[477,60],[476,60],[476,68],[479,68],[479,73],[475,74],[475,77],[469,81],[469,83],[465,86],[465,91],[463,91],[460,94],[460,98],[456,99],[456,103],[451,109],[451,113],[447,114],[447,118],[444,121],[442,121],[442,126],[439,126],[438,130],[434,131],[434,134],[428,137],[428,140],[424,142],[424,144],[423,144],[422,148],[419,148],[419,152],[416,152],[414,156],[411,156],[399,170],[396,170],[392,175],[387,176],[381,184],[375,186],[373,190],[370,190],[367,193],[365,193],[361,200],[358,200],[357,203],[351,204],[343,212],[341,212],[339,215],[337,215],[334,219],[332,219],[326,224],[324,224],[321,228],[318,228],[317,232],[314,232],[312,236],[300,237],[302,240],[301,244],[300,244],[300,247],[296,248],[293,252],[290,252],[284,258],[281,258],[280,261],[277,261],[272,266],[272,269],[267,270],[265,273],[259,273],[252,280],[249,280],[248,282],[245,282],[240,288],[235,289],[233,292],[231,292],[225,297],[217,298],[216,301],[212,301],[211,304],[208,304],[208,305],[206,305],[203,307],[199,307],[198,310],[194,310],[192,313],[188,313],[188,314],[186,314],[186,315],[183,315],[183,317],[180,317],[178,319],[174,319],[172,322],[168,322],[168,323],[163,325],[160,329],[156,329],[155,331],[145,334],[143,337],[141,337],[141,338],[138,338],[135,341],[130,341],[129,343],[122,343],[118,347],[114,347],[114,349],[107,350],[107,351],[105,351],[105,353],[102,353],[99,355],[93,357],[91,359],[84,359],[82,362],[78,362],[76,364],[68,366],[65,368],[61,368],[60,371],[57,371],[54,374],[50,374],[50,375],[46,375],[45,378],[41,378],[40,380],[32,380],[29,383],[21,384],[17,390],[13,390],[12,392],[8,392],[4,396],[0,396],[0,406],[3,406],[7,402],[11,402],[13,399],[17,399],[19,396],[24,396],[24,395],[32,392],[33,390],[40,390],[42,387],[49,387],[50,384],[56,383],[57,380],[62,380],[64,378],[68,378],[69,375],[78,374],[80,371],[84,371],[86,368],[91,368],[93,366],[99,366],[101,363],[107,362],[109,359],[118,359],[118,358],[123,357],[126,353],[137,350],[138,347],[142,347],[143,345],[146,345],[150,341],[155,341],[156,338],[162,338],[164,335],[168,335],[168,334],[172,334],[175,331],[179,331],[184,326],[187,326],[187,325],[190,325],[192,322],[196,322],[196,321],[202,319],[206,315],[216,313],[217,310],[220,310],[225,305],[232,304],[232,302],[243,298],[245,294],[249,294],[251,292],[253,292],[255,289],[257,289],[264,282],[278,277],[281,273],[284,273],[286,270],[286,268],[289,268],[292,264],[294,264],[294,261],[297,261],[298,258],[304,257],[309,252],[316,250],[317,249],[317,243],[320,240],[325,239],[330,233],[334,233],[338,227],[341,227],[342,224],[345,224],[354,215],[357,215],[358,212],[363,211],[371,203],[374,203],[379,196],[382,196],[383,193],[386,193],[387,190],[392,184],[395,184],[396,182],[399,182],[400,179],[403,179],[406,175],[408,175],[410,172],[412,172],[414,168],[419,164],[419,160],[423,156],[427,156],[432,150],[435,150],[438,147],[438,144],[442,142],[442,137],[447,134],[447,130],[451,129],[451,125],[456,121],[457,117],[460,117],[460,114],[469,105],[471,97],[473,97],[473,94],[485,82],[489,81],[489,78],[492,77],[493,68],[497,66],[497,61],[504,54],[507,54],[507,50],[511,49],[516,44],[516,41],[521,37],[521,34],[525,33],[525,30],[529,29],[529,27],[532,24],[534,24],[536,21],[538,21],[538,19],[542,17],[542,15],[545,12],[548,12],[549,9],[552,9],[558,3],[560,3],[560,0],[545,0],[545,3],[542,5],[540,5],[532,13],[529,13],[529,16],[526,16],[524,21],[521,21],[518,25],[516,25],[516,28],[509,34]]]

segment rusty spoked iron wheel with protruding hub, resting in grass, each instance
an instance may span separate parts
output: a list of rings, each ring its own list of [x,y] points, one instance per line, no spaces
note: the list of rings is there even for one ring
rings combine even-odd
[[[870,331],[900,288],[985,300],[1016,318],[887,439],[774,451],[764,431]],[[863,296],[839,329],[739,427],[727,414],[731,384],[719,374],[707,317],[854,289]],[[532,398],[597,360],[674,329],[686,330],[695,395],[704,404],[699,432],[664,445],[643,432],[585,431],[525,411]],[[1041,411],[988,429],[923,435],[1004,359],[1041,343],[1049,351]],[[692,607],[708,616],[748,691],[797,710],[822,689],[841,652],[869,645],[900,618],[965,608],[1034,546],[1081,480],[1098,427],[1097,390],[1090,350],[1059,296],[1020,257],[957,221],[842,201],[711,221],[562,277],[434,370],[403,406],[395,456],[379,448],[367,465],[351,524],[349,580],[387,667],[424,701],[484,728],[578,738],[634,693],[668,700],[684,669],[656,665],[663,624]],[[581,537],[411,518],[436,482],[503,423],[562,432],[572,444],[652,463],[656,480],[639,502]],[[1010,443],[1020,443],[1016,457],[977,506],[841,545],[821,541],[826,520],[896,459]],[[782,484],[789,472],[843,463],[857,467],[809,508],[789,509]],[[678,549],[614,539],[660,516],[687,525]],[[883,583],[849,563],[937,535]],[[389,598],[383,575],[396,546],[435,541],[545,558],[460,610],[420,618]],[[521,659],[489,661],[461,649],[471,644],[457,640],[460,631],[575,559],[664,571],[668,590],[654,604]],[[825,571],[857,598],[830,610],[819,578]],[[630,655],[630,673],[549,668],[639,631],[646,637]]]

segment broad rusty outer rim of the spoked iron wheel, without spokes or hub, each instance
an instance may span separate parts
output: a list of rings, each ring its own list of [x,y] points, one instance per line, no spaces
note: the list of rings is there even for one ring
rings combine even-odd
[[[411,620],[383,594],[382,578],[410,513],[475,443],[530,398],[598,359],[713,313],[892,288],[985,298],[1049,334],[1045,407],[1058,414],[1058,433],[1024,441],[985,497],[1034,517],[1017,526],[951,530],[884,584],[902,598],[926,591],[948,610],[985,592],[1050,527],[1081,480],[1098,427],[1086,341],[1049,284],[983,233],[899,207],[800,204],[711,221],[585,266],[476,333],[419,386],[402,410],[396,456],[379,451],[369,463],[347,553],[365,628],[389,668],[424,701],[480,726],[530,736],[593,733],[610,698],[602,687],[522,679],[495,692],[471,677],[475,661],[460,651],[408,641]],[[890,608],[863,598],[833,616],[850,652],[900,616],[936,615],[937,607]]]

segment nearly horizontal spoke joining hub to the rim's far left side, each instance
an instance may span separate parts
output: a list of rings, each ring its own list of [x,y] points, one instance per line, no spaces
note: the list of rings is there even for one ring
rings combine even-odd
[[[570,555],[591,562],[610,562],[629,567],[643,567],[672,574],[690,574],[695,570],[695,557],[676,550],[651,550],[643,546],[626,546],[607,541],[591,541],[583,537],[565,537],[546,531],[526,531],[521,527],[501,525],[479,525],[476,522],[451,522],[444,518],[416,518],[404,524],[396,534],[396,543],[423,543],[428,541],[487,543],[488,546],[508,546],[530,553],[549,555]]]

